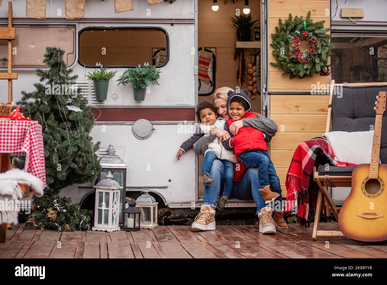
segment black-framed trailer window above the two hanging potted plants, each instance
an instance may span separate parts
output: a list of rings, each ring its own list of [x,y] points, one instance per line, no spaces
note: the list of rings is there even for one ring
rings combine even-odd
[[[79,32],[79,62],[87,67],[161,67],[168,62],[168,36],[153,27],[86,28]]]

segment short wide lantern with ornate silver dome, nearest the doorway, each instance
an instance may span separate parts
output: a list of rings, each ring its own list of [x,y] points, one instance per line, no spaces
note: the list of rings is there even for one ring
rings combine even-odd
[[[149,190],[145,188],[136,200],[136,207],[140,208],[140,228],[158,227],[157,204],[154,197],[149,195]]]

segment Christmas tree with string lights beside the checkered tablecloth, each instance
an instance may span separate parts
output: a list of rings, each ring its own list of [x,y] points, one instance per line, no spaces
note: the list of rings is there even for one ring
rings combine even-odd
[[[79,209],[70,197],[60,196],[60,190],[97,179],[99,142],[92,143],[91,106],[76,87],[78,76],[67,69],[64,53],[57,47],[46,48],[43,62],[48,68],[36,70],[40,83],[31,93],[22,91],[17,102],[24,116],[42,125],[45,149],[47,187],[43,197],[34,197],[27,223],[42,229],[84,230],[90,226],[91,211]],[[16,157],[14,165],[23,168],[24,156]]]

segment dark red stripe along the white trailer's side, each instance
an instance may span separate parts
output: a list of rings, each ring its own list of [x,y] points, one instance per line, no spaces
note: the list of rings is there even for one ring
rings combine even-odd
[[[99,113],[101,111],[101,114]],[[92,108],[97,121],[135,122],[139,119],[149,121],[194,121],[194,108]]]

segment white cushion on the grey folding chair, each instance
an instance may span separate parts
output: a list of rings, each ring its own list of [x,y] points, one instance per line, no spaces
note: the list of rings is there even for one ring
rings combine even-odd
[[[326,132],[336,161],[356,164],[370,163],[373,130],[366,132]]]

